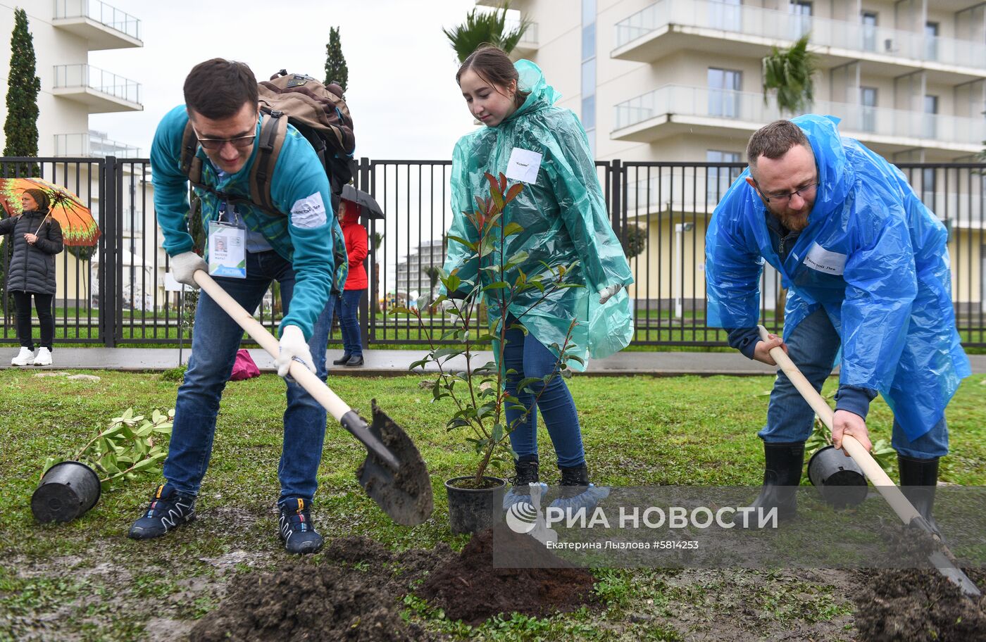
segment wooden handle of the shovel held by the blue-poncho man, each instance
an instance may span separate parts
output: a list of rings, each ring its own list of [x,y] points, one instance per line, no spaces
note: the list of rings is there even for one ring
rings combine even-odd
[[[757,328],[760,331],[760,338],[764,341],[769,341],[770,338],[767,329],[763,325],[757,325]],[[784,348],[780,346],[772,348],[770,350],[770,356],[777,362],[781,370],[784,371],[784,374],[788,376],[788,379],[798,389],[798,392],[801,392],[801,395],[805,397],[805,400],[808,401],[815,414],[831,430],[832,415],[834,414],[832,408],[825,402],[821,394],[818,394],[814,390],[809,381],[805,379],[805,375],[801,374],[798,366],[791,361],[791,357],[784,351]],[[873,459],[873,456],[863,448],[863,444],[860,444],[852,435],[843,435],[842,448],[849,453],[849,456],[853,458],[856,464],[859,464],[863,468],[863,472],[870,478],[873,485],[880,491],[880,495],[883,496],[883,499],[886,500],[886,503],[890,505],[890,508],[893,509],[893,512],[897,514],[897,517],[904,524],[910,524],[912,519],[920,517],[914,506],[900,492],[900,488],[883,472],[883,468],[880,467],[880,464],[877,464],[877,460]]]

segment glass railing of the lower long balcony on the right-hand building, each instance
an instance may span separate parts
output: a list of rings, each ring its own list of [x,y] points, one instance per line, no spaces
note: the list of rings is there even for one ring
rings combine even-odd
[[[815,102],[811,111],[842,118],[839,128],[844,132],[977,146],[986,139],[984,118],[826,101]],[[757,126],[785,117],[773,99],[764,105],[763,94],[665,85],[617,105],[615,129],[623,129],[665,113],[744,121]]]

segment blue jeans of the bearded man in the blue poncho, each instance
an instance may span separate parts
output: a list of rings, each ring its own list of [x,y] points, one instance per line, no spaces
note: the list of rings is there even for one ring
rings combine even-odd
[[[824,309],[811,313],[798,324],[788,338],[788,356],[795,362],[814,390],[821,391],[825,379],[832,373],[841,339]],[[767,408],[767,425],[758,433],[760,439],[770,443],[804,442],[810,434],[814,410],[794,387],[782,370],[777,371],[777,381],[770,393]],[[916,459],[931,459],[949,454],[949,429],[945,418],[916,441],[907,439],[903,428],[893,421],[893,437],[890,445],[897,453]]]

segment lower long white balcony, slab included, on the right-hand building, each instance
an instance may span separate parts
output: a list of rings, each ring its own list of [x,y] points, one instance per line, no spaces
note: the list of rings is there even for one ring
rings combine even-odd
[[[887,151],[931,147],[978,153],[986,139],[986,119],[949,116],[888,107],[815,102],[814,113],[842,118],[839,130]],[[703,127],[711,134],[735,136],[787,117],[763,94],[666,85],[616,106],[613,140],[653,142]]]

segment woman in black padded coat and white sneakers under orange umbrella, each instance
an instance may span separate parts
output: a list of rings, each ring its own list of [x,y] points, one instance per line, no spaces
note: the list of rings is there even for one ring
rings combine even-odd
[[[50,199],[43,189],[25,189],[23,211],[0,221],[0,235],[13,233],[14,255],[7,272],[7,292],[17,308],[17,336],[21,352],[11,359],[13,366],[50,366],[55,321],[51,303],[55,296],[55,254],[62,244],[61,225],[49,212]],[[31,298],[35,298],[41,341],[35,356],[31,329]]]

